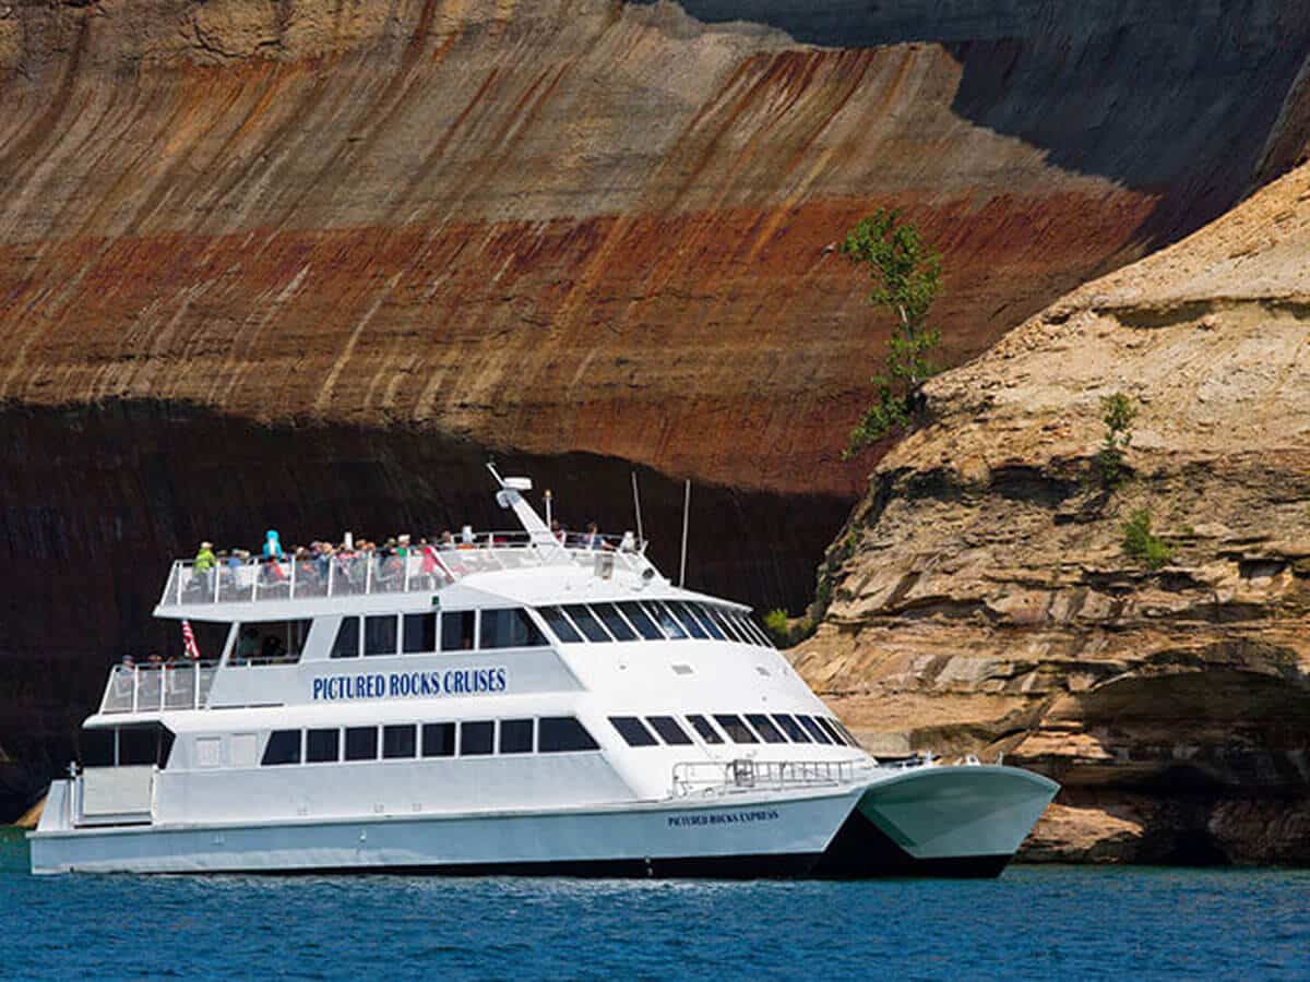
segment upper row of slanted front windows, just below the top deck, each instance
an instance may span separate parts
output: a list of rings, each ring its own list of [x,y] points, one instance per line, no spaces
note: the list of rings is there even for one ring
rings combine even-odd
[[[715,604],[683,600],[629,600],[618,604],[565,604],[537,608],[555,636],[567,643],[681,640],[713,638],[772,648],[749,617]]]

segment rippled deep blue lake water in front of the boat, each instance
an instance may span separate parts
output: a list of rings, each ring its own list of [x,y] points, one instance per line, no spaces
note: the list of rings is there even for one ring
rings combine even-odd
[[[1310,871],[1013,867],[988,881],[28,873],[0,977],[1310,978]]]

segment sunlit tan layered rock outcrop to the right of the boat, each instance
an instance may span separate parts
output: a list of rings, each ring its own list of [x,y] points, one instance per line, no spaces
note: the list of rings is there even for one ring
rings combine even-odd
[[[930,384],[829,551],[806,677],[884,753],[1060,780],[1028,858],[1310,862],[1307,254],[1310,166],[1074,292]]]

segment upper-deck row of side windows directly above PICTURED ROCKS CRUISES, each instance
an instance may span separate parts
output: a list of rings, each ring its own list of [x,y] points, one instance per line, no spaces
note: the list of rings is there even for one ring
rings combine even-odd
[[[478,615],[481,613],[481,617]],[[527,610],[448,610],[430,614],[343,617],[331,657],[428,655],[438,651],[536,648],[546,644]]]

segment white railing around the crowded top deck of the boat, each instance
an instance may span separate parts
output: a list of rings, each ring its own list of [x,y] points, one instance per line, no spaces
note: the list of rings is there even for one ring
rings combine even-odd
[[[305,554],[278,560],[220,559],[206,570],[196,570],[194,559],[179,559],[173,563],[160,604],[254,604],[431,592],[473,573],[541,566],[580,566],[607,579],[616,570],[643,573],[651,568],[643,550],[630,537],[607,536],[603,546],[591,547],[580,538],[557,545],[532,542],[524,533],[493,532],[455,547],[411,546],[407,555],[379,550]]]

